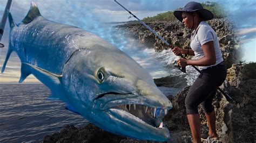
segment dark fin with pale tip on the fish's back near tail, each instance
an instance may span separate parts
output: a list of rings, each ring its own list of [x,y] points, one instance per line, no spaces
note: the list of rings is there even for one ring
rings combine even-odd
[[[26,17],[22,20],[22,23],[28,24],[33,21],[33,19],[37,18],[38,16],[41,16],[39,9],[37,8],[36,3],[31,2],[30,10]]]

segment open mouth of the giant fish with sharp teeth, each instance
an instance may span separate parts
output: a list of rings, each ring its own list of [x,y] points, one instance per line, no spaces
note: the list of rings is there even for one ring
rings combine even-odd
[[[118,96],[118,97],[117,97]],[[114,97],[114,99],[110,99]],[[159,117],[163,118],[170,107],[159,106],[154,101],[138,95],[132,94],[105,94],[98,100],[104,100],[101,110],[104,110],[112,117],[132,126],[132,130],[146,132],[148,137],[145,139],[167,140],[170,138],[169,130],[164,127]],[[129,128],[129,127],[126,127]],[[136,137],[133,137],[136,138]],[[140,137],[142,138],[142,137]]]

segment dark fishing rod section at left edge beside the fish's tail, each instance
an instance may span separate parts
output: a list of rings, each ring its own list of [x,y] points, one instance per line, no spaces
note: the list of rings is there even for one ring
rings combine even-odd
[[[2,20],[1,20],[1,23],[0,23],[0,48],[4,47],[4,45],[1,43],[1,40],[2,40],[2,36],[4,34],[4,26],[5,26],[5,23],[6,23],[8,11],[10,11],[11,2],[12,2],[12,0],[7,1],[7,4],[6,4],[5,9],[4,9],[3,17],[2,17]]]

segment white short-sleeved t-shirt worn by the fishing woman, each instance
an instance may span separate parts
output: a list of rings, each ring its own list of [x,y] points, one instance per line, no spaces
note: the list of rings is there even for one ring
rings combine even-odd
[[[205,21],[202,21],[198,25],[197,30],[194,30],[193,33],[194,34],[191,37],[190,47],[193,49],[196,59],[200,59],[205,56],[202,45],[204,45],[206,42],[213,41],[216,55],[215,65],[218,65],[220,62],[223,61],[217,34],[210,25],[208,25]],[[202,70],[215,65],[201,67],[199,66],[199,69]]]

